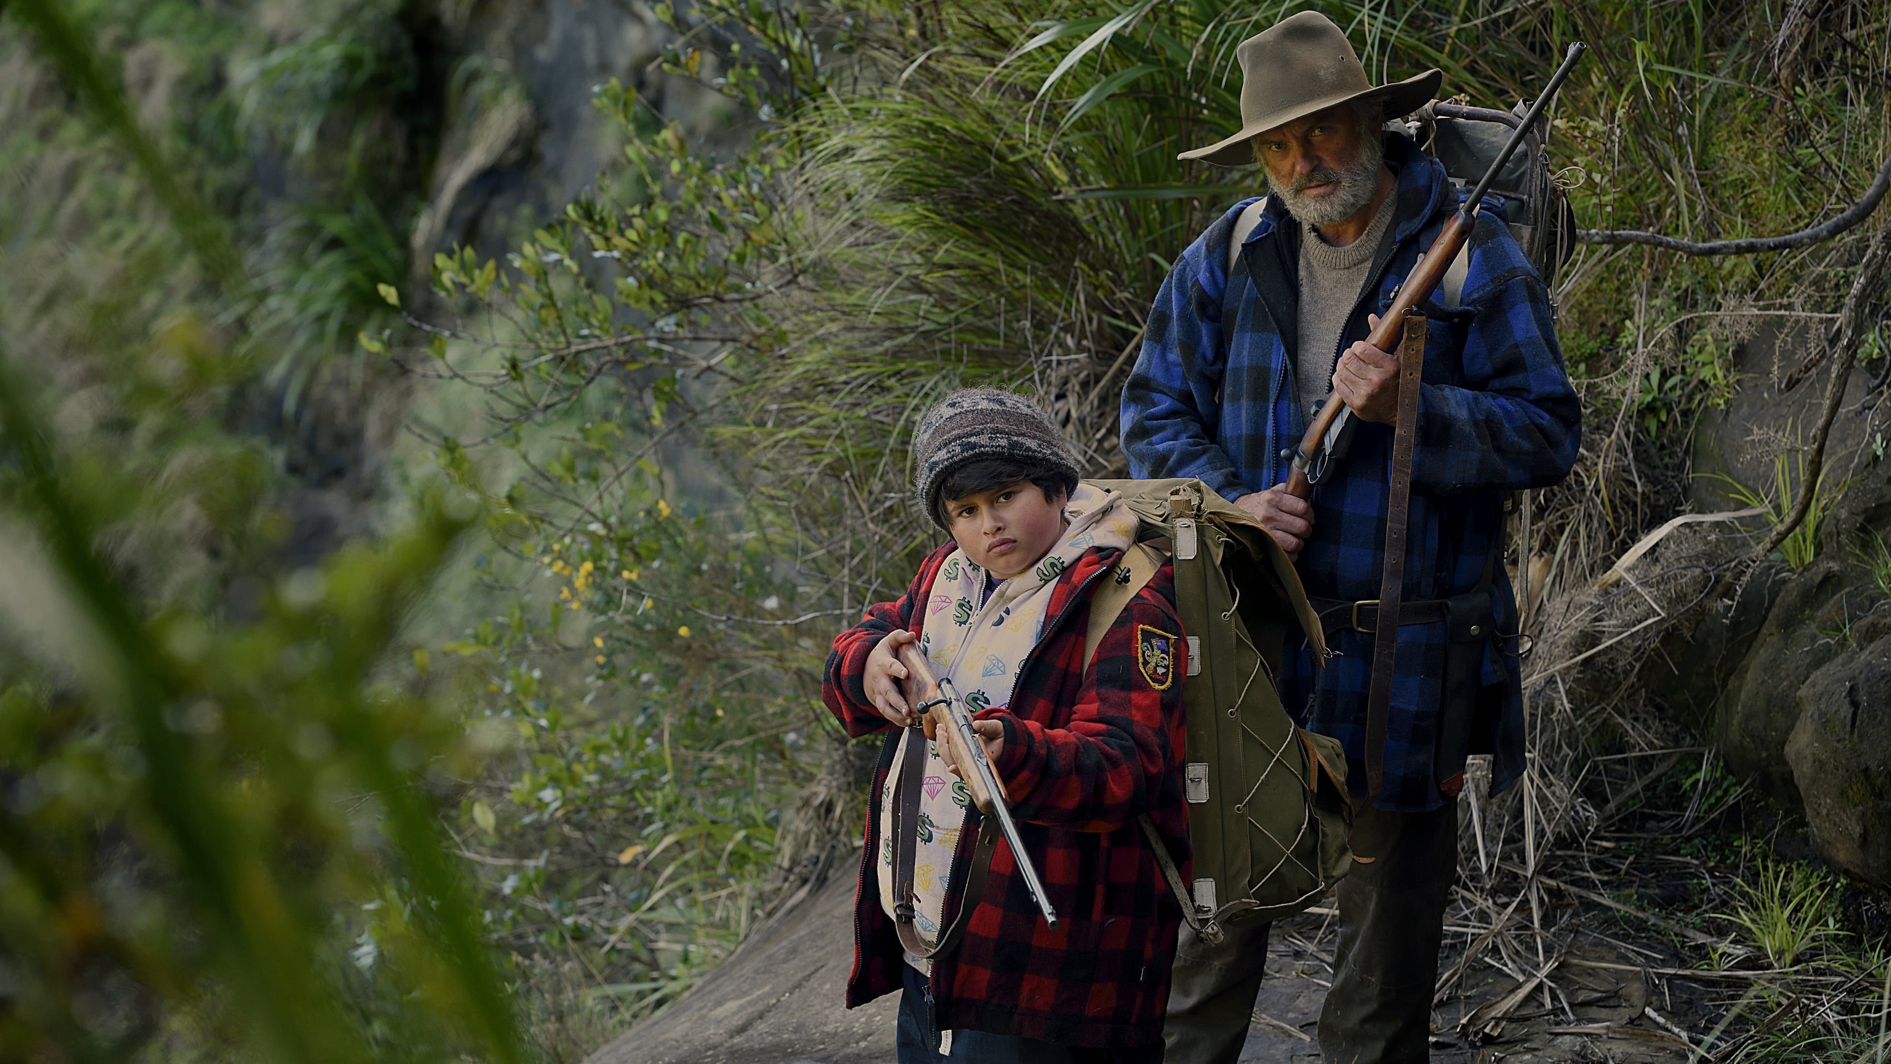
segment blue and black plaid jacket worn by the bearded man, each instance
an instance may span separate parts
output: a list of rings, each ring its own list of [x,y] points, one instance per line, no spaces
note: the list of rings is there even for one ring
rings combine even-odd
[[[1297,352],[1299,225],[1271,201],[1242,244],[1250,280],[1227,288],[1233,206],[1171,269],[1136,365],[1123,386],[1121,439],[1135,477],[1201,477],[1223,498],[1284,483],[1282,449],[1305,432],[1293,396],[1293,360],[1322,358],[1367,335],[1367,312],[1382,312],[1462,193],[1445,167],[1405,136],[1388,134],[1386,163],[1397,172],[1394,242],[1373,259],[1335,350]],[[1437,299],[1426,337],[1418,437],[1413,460],[1405,600],[1473,591],[1503,534],[1503,494],[1549,487],[1568,475],[1581,439],[1581,405],[1562,367],[1549,292],[1486,199],[1471,233],[1462,307]],[[1237,273],[1239,276],[1239,273]],[[1223,295],[1227,295],[1223,299]],[[1346,458],[1314,488],[1312,540],[1299,557],[1307,593],[1322,598],[1379,598],[1388,504],[1392,430],[1360,424]],[[1503,566],[1494,566],[1492,606],[1500,632],[1517,630],[1517,600]],[[1292,640],[1290,640],[1292,644]],[[1314,668],[1301,640],[1286,653],[1282,702],[1309,731],[1346,748],[1348,778],[1365,795],[1365,693],[1373,636],[1343,630],[1331,657]],[[1517,640],[1486,646],[1479,702],[1501,704],[1473,719],[1471,750],[1494,754],[1492,789],[1524,771],[1522,687]],[[1384,748],[1379,808],[1422,812],[1447,799],[1433,771],[1445,670],[1445,625],[1399,629],[1397,674]]]

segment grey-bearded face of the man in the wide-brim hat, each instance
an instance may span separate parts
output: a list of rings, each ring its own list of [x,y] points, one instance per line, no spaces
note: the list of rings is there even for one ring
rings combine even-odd
[[[1350,104],[1314,112],[1254,138],[1267,186],[1293,218],[1337,225],[1373,201],[1384,150]]]

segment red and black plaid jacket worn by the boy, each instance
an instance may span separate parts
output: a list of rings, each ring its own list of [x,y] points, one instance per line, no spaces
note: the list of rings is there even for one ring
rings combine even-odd
[[[866,699],[866,657],[894,630],[919,632],[932,577],[953,545],[932,551],[898,602],[881,602],[834,640],[823,700],[847,735],[893,725]],[[1044,632],[1017,678],[1010,706],[981,719],[1004,721],[998,774],[1012,797],[1017,831],[1044,878],[1057,930],[1031,901],[1010,846],[991,858],[985,897],[957,949],[934,960],[932,996],[940,1030],[981,1030],[1063,1045],[1133,1047],[1163,1036],[1169,967],[1182,909],[1163,880],[1136,816],[1148,812],[1188,880],[1188,810],[1182,801],[1182,676],[1188,644],[1174,610],[1174,572],[1161,572],[1129,602],[1084,657],[1089,589],[1112,579],[1119,553],[1091,549],[1051,589]],[[1169,636],[1169,672],[1152,682],[1138,642]],[[1157,683],[1161,687],[1157,687]],[[887,736],[874,795],[887,786],[898,731]],[[974,810],[976,814],[976,810]],[[976,831],[959,837],[947,916],[961,907]],[[879,803],[870,803],[860,888],[855,897],[855,962],[847,1007],[900,988],[902,950],[879,905]]]

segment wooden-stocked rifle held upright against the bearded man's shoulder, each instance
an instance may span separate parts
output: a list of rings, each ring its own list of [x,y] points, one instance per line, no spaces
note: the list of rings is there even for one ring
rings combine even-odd
[[[1418,265],[1407,275],[1405,284],[1399,286],[1397,295],[1392,299],[1392,307],[1386,309],[1379,318],[1379,328],[1365,337],[1365,343],[1377,346],[1379,350],[1396,352],[1399,339],[1405,335],[1405,314],[1416,309],[1420,303],[1430,299],[1431,292],[1437,290],[1439,282],[1445,280],[1445,273],[1450,269],[1450,261],[1458,257],[1464,250],[1464,242],[1471,239],[1471,227],[1477,225],[1477,204],[1484,201],[1484,193],[1490,191],[1490,182],[1498,180],[1503,172],[1503,165],[1511,161],[1511,155],[1524,142],[1530,127],[1535,125],[1543,108],[1549,106],[1551,98],[1556,97],[1556,89],[1562,87],[1562,80],[1575,70],[1575,62],[1583,59],[1588,51],[1583,42],[1570,45],[1570,51],[1562,57],[1562,66],[1556,68],[1549,78],[1549,85],[1543,87],[1543,95],[1530,104],[1530,112],[1524,119],[1517,123],[1511,133],[1509,142],[1503,151],[1498,151],[1490,170],[1484,178],[1477,182],[1477,189],[1471,197],[1458,206],[1458,214],[1445,223],[1445,229],[1437,235],[1437,240],[1426,250]],[[1293,470],[1288,471],[1288,492],[1299,498],[1312,494],[1312,487],[1320,483],[1326,475],[1329,458],[1335,452],[1341,437],[1345,435],[1346,420],[1341,415],[1346,413],[1346,403],[1333,392],[1320,413],[1314,415],[1312,424],[1307,426],[1307,435],[1301,437],[1299,449],[1293,452]]]

